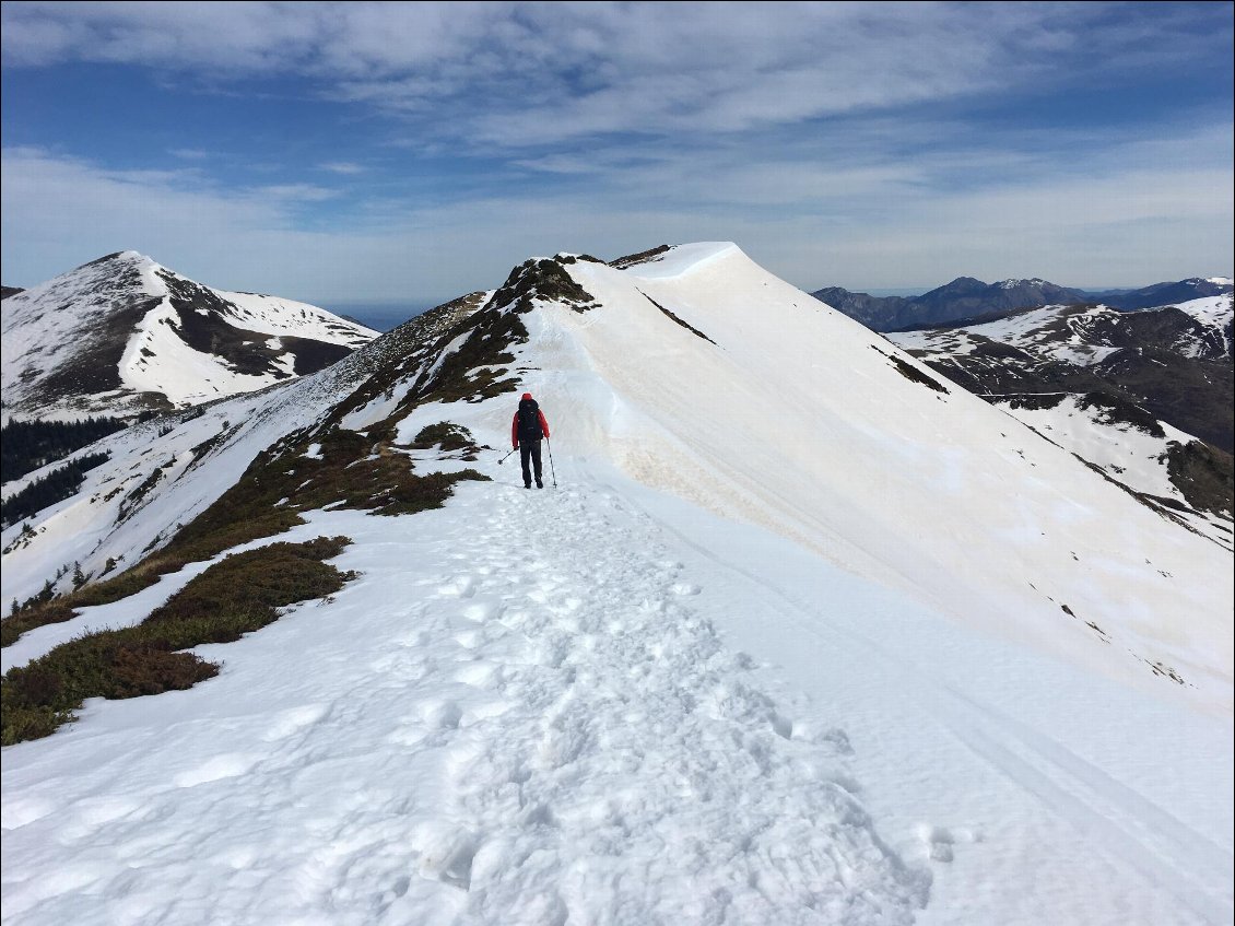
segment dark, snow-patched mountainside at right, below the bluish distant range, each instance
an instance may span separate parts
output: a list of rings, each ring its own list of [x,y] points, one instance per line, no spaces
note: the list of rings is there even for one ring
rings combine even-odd
[[[889,341],[1134,491],[1231,543],[1231,296],[1118,312],[1047,306]],[[1198,440],[1199,435],[1199,440]],[[1224,498],[1197,493],[1195,462]]]

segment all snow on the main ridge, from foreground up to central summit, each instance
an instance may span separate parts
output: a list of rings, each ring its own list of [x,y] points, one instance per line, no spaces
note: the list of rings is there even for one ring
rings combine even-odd
[[[551,488],[494,452],[443,510],[312,514],[291,538],[354,541],[342,591],[6,747],[4,921],[1230,920],[1229,551],[732,244],[527,264],[417,337],[149,436],[240,422],[125,526],[95,503],[91,556],[327,419],[504,453],[524,389]],[[83,495],[152,472],[112,448]],[[5,598],[83,503],[6,554]]]

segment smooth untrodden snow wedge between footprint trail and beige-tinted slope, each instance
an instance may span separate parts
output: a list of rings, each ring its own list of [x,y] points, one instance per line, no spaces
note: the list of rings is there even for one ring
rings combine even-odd
[[[650,512],[705,577],[709,617],[795,730],[820,712],[844,728],[853,791],[932,870],[916,921],[1229,921],[1229,719],[974,633],[616,474],[588,478]]]

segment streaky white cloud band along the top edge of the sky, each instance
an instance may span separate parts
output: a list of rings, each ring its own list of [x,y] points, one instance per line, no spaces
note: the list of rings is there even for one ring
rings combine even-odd
[[[1195,11],[1102,4],[56,4],[2,7],[10,67],[300,75],[420,133],[545,146],[710,133],[1086,79],[1205,52]],[[1100,46],[1102,54],[1093,48]]]

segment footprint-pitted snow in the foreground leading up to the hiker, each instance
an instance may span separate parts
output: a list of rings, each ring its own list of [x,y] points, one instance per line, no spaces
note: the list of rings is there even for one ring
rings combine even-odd
[[[315,515],[293,536],[358,541],[332,601],[7,751],[5,921],[913,920],[930,874],[850,793],[844,731],[751,683],[646,516],[461,495]]]

